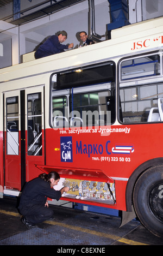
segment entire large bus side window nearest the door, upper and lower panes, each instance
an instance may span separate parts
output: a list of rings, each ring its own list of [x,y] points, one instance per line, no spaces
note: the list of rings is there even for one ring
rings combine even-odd
[[[110,121],[106,97],[115,90],[115,70],[115,62],[108,61],[52,74],[50,126],[91,127],[113,123],[115,103],[111,104]]]

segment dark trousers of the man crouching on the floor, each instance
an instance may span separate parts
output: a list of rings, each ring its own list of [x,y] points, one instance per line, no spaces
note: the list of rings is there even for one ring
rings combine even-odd
[[[26,217],[27,221],[32,224],[41,223],[53,217],[53,211],[48,207],[42,205],[33,205],[27,212],[21,211],[22,215]]]

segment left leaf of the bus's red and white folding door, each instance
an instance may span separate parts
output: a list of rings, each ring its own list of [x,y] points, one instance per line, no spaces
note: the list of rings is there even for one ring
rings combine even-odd
[[[4,146],[6,188],[21,189],[20,91],[4,94]]]

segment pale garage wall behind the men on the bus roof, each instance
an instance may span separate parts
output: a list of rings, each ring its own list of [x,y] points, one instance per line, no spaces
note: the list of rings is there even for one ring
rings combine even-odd
[[[21,10],[41,2],[45,2],[45,0],[33,0],[31,3],[27,0],[21,0]],[[163,13],[162,0],[128,0],[128,3],[130,23],[158,17]],[[95,31],[99,35],[106,33],[106,25],[110,23],[109,10],[108,0],[95,0]],[[1,19],[11,14],[12,3],[0,8]],[[57,13],[20,26],[14,26],[11,23],[0,20],[0,43],[3,44],[3,57],[0,56],[0,68],[20,63],[21,55],[34,51],[35,47],[46,37],[61,30],[65,30],[68,33],[65,44],[73,42],[74,47],[78,47],[80,44],[79,32],[83,30],[87,33],[89,32],[88,17],[89,1],[85,0]],[[102,37],[102,40],[105,39],[105,37]],[[8,43],[10,40],[12,44]]]

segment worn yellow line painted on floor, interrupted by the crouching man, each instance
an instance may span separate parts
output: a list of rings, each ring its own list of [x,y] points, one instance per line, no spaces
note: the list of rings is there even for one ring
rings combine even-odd
[[[5,211],[5,210],[0,210],[0,213],[4,213],[6,215],[11,215],[11,216],[15,216],[15,217],[20,216],[19,213]],[[106,237],[108,239],[112,239],[112,240],[115,240],[115,241],[118,241],[118,242],[127,243],[128,245],[147,245],[146,243],[141,243],[141,242],[136,242],[136,241],[129,240],[129,239],[124,239],[123,237],[120,237],[120,236],[106,234],[106,233],[102,233],[102,232],[99,232],[99,231],[96,231],[96,230],[76,227],[76,226],[65,224],[65,223],[61,223],[61,222],[45,221],[45,223],[48,223],[48,224],[51,224],[51,225],[59,225],[62,228],[68,228],[68,229],[72,229],[72,230],[77,230],[77,231],[85,232],[85,233],[91,234],[91,235]]]

